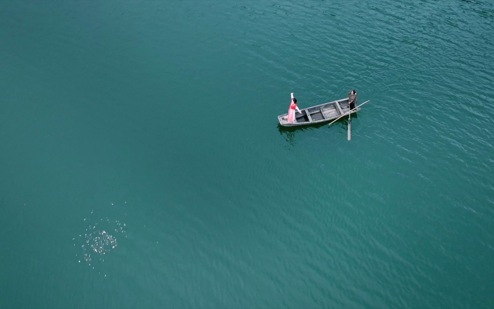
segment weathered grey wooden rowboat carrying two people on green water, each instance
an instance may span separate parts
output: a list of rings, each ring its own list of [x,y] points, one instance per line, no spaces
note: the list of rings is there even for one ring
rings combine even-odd
[[[348,98],[332,101],[329,103],[324,103],[312,107],[307,107],[304,109],[300,109],[302,112],[295,112],[295,121],[288,122],[288,114],[278,116],[278,120],[280,121],[280,125],[286,127],[293,126],[306,126],[312,124],[318,124],[321,122],[330,121],[336,119],[343,115],[344,113],[348,113]],[[353,110],[350,114],[356,113],[361,108],[358,107]]]

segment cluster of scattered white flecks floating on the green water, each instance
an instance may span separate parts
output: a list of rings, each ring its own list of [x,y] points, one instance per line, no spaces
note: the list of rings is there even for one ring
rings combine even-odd
[[[110,258],[110,253],[117,250],[119,242],[117,238],[127,237],[125,223],[110,218],[98,218],[91,215],[83,219],[84,231],[73,238],[74,246],[78,249],[75,253],[77,263],[85,262],[90,269],[101,268],[101,264]],[[110,258],[111,259],[111,258]],[[101,269],[98,273],[101,273]],[[105,274],[106,277],[106,274]]]

